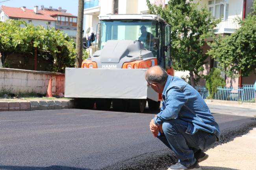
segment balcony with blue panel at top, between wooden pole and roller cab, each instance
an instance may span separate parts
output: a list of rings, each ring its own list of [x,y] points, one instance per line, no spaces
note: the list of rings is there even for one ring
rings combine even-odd
[[[100,2],[99,0],[85,0],[84,11],[85,15],[98,15],[100,14]]]

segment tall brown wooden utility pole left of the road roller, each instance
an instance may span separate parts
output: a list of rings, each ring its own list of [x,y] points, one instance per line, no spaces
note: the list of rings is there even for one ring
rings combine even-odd
[[[78,17],[77,17],[77,33],[76,33],[76,63],[75,63],[76,68],[80,68],[82,65],[83,8],[84,8],[84,0],[78,0]]]

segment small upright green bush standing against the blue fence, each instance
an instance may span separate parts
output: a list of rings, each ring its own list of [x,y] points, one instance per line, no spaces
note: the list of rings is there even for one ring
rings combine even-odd
[[[218,86],[225,86],[225,80],[221,77],[221,70],[213,68],[206,76],[206,88],[209,92],[209,98],[213,99],[214,94],[217,92]]]

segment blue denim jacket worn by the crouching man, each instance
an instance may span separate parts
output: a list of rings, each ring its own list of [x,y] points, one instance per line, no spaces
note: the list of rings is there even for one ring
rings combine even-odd
[[[186,133],[195,134],[198,130],[220,137],[219,125],[215,122],[204,99],[192,86],[175,76],[168,76],[163,90],[160,113],[154,118],[155,124],[169,119],[188,122]]]

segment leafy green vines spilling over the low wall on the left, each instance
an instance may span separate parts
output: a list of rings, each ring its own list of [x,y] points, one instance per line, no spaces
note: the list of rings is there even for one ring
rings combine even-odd
[[[20,27],[21,26],[21,27]],[[65,67],[74,66],[76,55],[72,38],[52,27],[33,26],[20,20],[0,22],[0,51],[3,61],[11,53],[37,53],[54,58],[52,71],[63,72]]]

